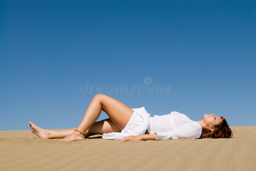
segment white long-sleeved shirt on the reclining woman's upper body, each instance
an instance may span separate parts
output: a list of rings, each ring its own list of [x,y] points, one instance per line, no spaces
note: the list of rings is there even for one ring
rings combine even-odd
[[[148,133],[156,133],[156,140],[177,138],[200,138],[202,127],[179,112],[149,117]]]

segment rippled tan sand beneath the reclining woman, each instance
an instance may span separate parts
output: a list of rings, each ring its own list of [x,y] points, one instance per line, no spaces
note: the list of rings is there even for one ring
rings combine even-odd
[[[119,142],[38,138],[0,131],[0,170],[255,170],[256,126],[231,126],[233,138]]]

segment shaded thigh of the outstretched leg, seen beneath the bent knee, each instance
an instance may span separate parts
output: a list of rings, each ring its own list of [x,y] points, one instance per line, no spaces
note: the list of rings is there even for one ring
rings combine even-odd
[[[95,122],[88,129],[88,133],[92,135],[104,133],[107,134],[111,132],[121,132],[121,130],[116,126],[115,123],[111,121],[110,118]]]

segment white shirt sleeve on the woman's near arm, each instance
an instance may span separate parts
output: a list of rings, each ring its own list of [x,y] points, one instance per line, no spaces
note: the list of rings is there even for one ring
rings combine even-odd
[[[156,133],[156,140],[162,139],[177,139],[177,138],[200,138],[202,133],[202,127],[196,125],[196,123],[185,123],[177,129],[170,130],[168,132],[159,132]]]

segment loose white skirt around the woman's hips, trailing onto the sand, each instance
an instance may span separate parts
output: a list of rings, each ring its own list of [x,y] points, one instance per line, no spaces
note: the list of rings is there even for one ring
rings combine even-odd
[[[129,135],[145,134],[149,127],[150,113],[145,110],[145,107],[133,108],[132,110],[134,110],[132,117],[121,132],[104,133],[102,138],[119,140]]]

